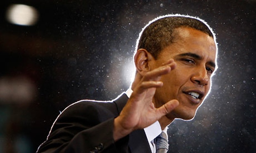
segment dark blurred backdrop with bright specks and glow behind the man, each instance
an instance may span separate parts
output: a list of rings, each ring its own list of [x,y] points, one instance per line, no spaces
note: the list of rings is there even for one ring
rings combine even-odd
[[[0,152],[33,153],[69,104],[124,92],[140,30],[165,14],[204,19],[219,46],[212,92],[169,126],[169,153],[256,152],[256,0],[1,0]]]

